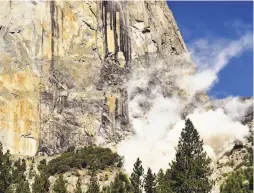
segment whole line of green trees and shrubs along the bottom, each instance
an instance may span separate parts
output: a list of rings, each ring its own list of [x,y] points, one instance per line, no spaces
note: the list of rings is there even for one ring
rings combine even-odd
[[[248,140],[253,145],[252,133]],[[98,156],[97,153],[100,154],[99,162],[95,159]],[[86,163],[89,163],[88,169],[91,171],[90,182],[87,190],[84,191],[81,179],[78,178],[75,193],[209,193],[214,185],[214,181],[211,180],[213,172],[210,166],[211,159],[203,149],[203,140],[200,139],[198,131],[194,128],[192,122],[187,119],[176,147],[175,159],[169,163],[168,169],[165,171],[160,169],[157,174],[153,173],[151,168],[147,168],[145,171],[142,161],[137,158],[130,176],[119,172],[114,180],[104,187],[100,187],[97,178],[99,170],[114,164],[119,167],[122,166],[120,156],[111,153],[109,149],[103,150],[103,148],[93,149],[88,147],[79,152],[74,152],[72,149],[63,154],[62,158],[57,158],[51,161],[51,163],[47,164],[46,160],[40,161],[37,167],[39,173],[34,174],[34,182],[30,185],[30,190],[25,175],[25,161],[19,159],[12,163],[10,152],[3,153],[1,145],[0,193],[48,193],[50,189],[49,176],[54,174],[58,174],[58,177],[53,184],[53,192],[68,193],[66,181],[63,177],[63,171],[65,170],[61,168],[64,167],[66,160],[68,169],[73,166],[70,160],[78,160],[75,164],[78,168],[83,168],[83,158],[85,157],[89,157],[89,161]],[[221,193],[253,192],[252,159],[253,149],[250,147],[249,156],[246,161],[247,169],[240,168],[230,174],[221,185]],[[102,162],[103,168],[101,168]]]

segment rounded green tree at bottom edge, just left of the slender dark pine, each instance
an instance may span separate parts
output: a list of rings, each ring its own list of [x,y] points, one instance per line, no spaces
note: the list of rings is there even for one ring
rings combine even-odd
[[[114,181],[108,187],[103,188],[104,193],[127,193],[131,192],[131,184],[128,177],[123,173],[118,173]]]

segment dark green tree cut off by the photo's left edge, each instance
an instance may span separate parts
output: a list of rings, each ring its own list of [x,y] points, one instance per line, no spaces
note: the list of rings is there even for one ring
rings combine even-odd
[[[0,193],[5,193],[7,190],[10,191],[9,186],[11,185],[11,165],[10,152],[9,150],[4,154],[3,146],[0,142]]]

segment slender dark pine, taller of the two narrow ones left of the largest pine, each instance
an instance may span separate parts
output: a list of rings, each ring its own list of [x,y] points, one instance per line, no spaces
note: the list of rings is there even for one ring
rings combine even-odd
[[[144,169],[142,166],[142,161],[138,158],[134,164],[133,172],[131,174],[130,180],[134,190],[134,193],[142,192],[142,176],[144,174]]]

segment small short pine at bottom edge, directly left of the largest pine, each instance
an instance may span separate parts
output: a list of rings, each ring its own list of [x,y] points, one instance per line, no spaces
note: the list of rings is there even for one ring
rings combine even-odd
[[[156,182],[156,193],[172,193],[170,179],[168,178],[168,171],[164,174],[163,170],[160,169],[157,174]]]

